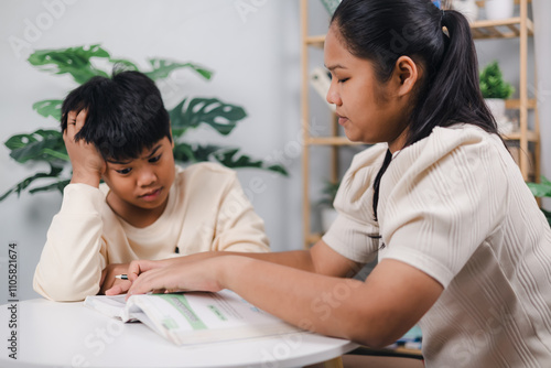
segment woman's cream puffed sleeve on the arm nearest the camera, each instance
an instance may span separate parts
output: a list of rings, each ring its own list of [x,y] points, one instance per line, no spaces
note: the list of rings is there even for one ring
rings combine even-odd
[[[496,140],[441,129],[399,152],[381,182],[380,260],[400,260],[450,284],[505,217],[507,180],[498,152],[505,147]]]

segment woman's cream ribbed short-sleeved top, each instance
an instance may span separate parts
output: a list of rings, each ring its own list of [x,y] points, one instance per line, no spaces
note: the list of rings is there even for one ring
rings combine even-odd
[[[419,323],[428,368],[551,367],[551,229],[499,138],[457,125],[395,152],[376,223],[372,181],[386,151],[355,156],[324,241],[444,286]]]

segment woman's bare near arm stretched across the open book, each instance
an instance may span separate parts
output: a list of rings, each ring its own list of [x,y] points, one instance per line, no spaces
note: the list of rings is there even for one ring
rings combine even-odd
[[[279,255],[284,257],[287,252]],[[156,268],[139,277],[132,274],[129,294],[229,289],[294,325],[381,347],[411,328],[443,290],[428,274],[395,260],[383,260],[366,282],[281,263],[227,256],[185,267]],[[328,267],[322,270],[337,271]]]

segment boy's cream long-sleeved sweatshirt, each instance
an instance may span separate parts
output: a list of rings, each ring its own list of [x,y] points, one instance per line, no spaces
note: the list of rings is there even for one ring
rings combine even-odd
[[[169,202],[155,223],[136,228],[107,205],[109,187],[65,187],[34,273],[34,290],[54,301],[97,294],[109,263],[159,260],[209,250],[269,251],[262,219],[235,171],[215,163],[176,167]],[[179,253],[175,253],[176,247]]]

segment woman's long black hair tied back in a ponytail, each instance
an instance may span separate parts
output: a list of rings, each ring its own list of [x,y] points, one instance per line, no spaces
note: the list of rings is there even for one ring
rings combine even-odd
[[[467,20],[440,10],[430,0],[343,0],[331,25],[347,50],[369,59],[379,82],[387,82],[402,55],[422,73],[415,90],[406,145],[428,137],[434,127],[457,122],[498,133],[478,85],[478,62]],[[385,160],[374,188],[378,192]],[[374,214],[377,219],[377,198]]]

